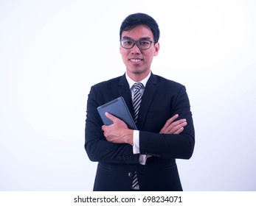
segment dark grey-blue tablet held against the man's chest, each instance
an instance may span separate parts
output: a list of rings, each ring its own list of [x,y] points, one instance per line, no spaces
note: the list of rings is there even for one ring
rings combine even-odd
[[[105,112],[108,112],[124,121],[129,129],[137,129],[136,124],[134,123],[134,118],[132,118],[122,96],[112,100],[111,102],[103,104],[100,107],[97,107],[97,110],[100,113],[100,117],[105,125],[113,124],[113,121],[105,116]]]

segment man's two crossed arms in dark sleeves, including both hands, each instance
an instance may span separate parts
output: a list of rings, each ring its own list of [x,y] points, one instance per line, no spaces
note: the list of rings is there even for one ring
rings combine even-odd
[[[111,118],[114,124],[102,126],[97,107],[105,102],[98,100],[99,96],[104,95],[96,93],[92,88],[87,102],[85,131],[85,149],[89,159],[104,163],[125,164],[139,163],[137,157],[140,154],[158,154],[159,157],[165,159],[189,159],[193,154],[195,144],[190,103],[184,87],[175,89],[175,91],[177,91],[173,94],[177,96],[175,99],[162,102],[161,110],[159,110],[162,112],[159,113],[162,118],[156,117],[154,113],[148,113],[143,129],[139,130],[139,154],[134,154],[133,135],[136,132],[128,129],[123,121],[111,114],[106,114],[106,116]],[[175,115],[167,120],[171,113],[179,114],[179,116]],[[124,160],[122,157],[133,158]]]

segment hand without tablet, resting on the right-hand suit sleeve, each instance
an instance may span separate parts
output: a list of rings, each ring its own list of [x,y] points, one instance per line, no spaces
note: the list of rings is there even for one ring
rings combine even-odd
[[[175,121],[176,118],[178,118],[178,117],[179,117],[179,115],[176,114],[172,118],[169,118],[166,121],[165,126],[162,127],[162,129],[159,133],[160,134],[176,134],[176,135],[179,135],[184,130],[184,127],[187,126],[187,120],[185,118],[182,118],[180,120]]]

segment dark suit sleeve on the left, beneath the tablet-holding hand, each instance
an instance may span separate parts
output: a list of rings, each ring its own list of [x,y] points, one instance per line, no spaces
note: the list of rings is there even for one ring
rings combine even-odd
[[[105,103],[102,99],[103,94],[97,93],[95,88],[91,87],[87,100],[85,129],[85,149],[89,159],[95,162],[139,164],[139,154],[133,153],[131,145],[106,141],[101,129],[103,121],[97,112],[97,107]]]

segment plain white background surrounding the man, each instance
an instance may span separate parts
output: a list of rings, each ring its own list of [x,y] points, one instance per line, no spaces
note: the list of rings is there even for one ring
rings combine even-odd
[[[154,74],[187,88],[196,127],[184,191],[256,191],[256,1],[0,1],[0,191],[91,191],[91,85],[125,72],[119,29],[159,24]]]

